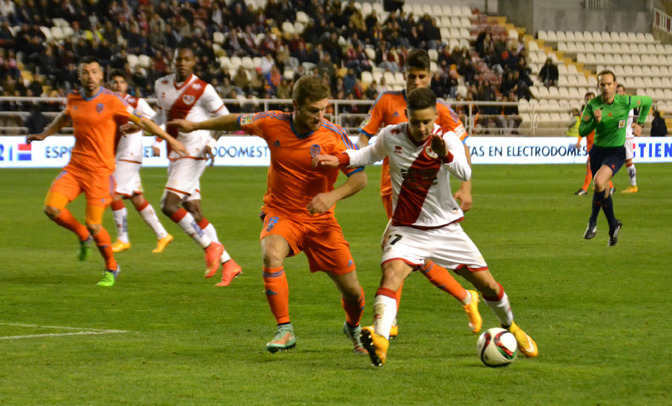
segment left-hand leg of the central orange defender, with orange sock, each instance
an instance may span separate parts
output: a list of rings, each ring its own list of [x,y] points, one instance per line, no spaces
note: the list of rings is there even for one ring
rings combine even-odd
[[[283,266],[285,258],[292,253],[292,248],[281,234],[268,234],[275,228],[275,222],[272,222],[270,218],[267,220],[261,235],[264,264],[262,276],[266,300],[275,317],[277,330],[275,337],[266,343],[266,349],[276,353],[296,347],[294,328],[289,318],[289,285]],[[268,231],[264,233],[267,229]]]

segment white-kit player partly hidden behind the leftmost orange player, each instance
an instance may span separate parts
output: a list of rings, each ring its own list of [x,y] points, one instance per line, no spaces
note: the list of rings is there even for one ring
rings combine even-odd
[[[128,83],[126,74],[119,69],[110,71],[108,75],[110,89],[119,93],[124,100],[138,114],[153,119],[156,113],[143,99],[127,94]],[[128,211],[122,199],[129,199],[138,211],[145,223],[156,234],[156,248],[154,253],[163,252],[168,244],[173,241],[173,236],[168,234],[163,227],[151,204],[145,199],[140,180],[140,167],[142,166],[142,131],[133,124],[126,124],[120,128],[121,134],[117,142],[116,167],[114,170],[115,189],[112,204],[112,216],[117,228],[117,240],[112,244],[112,252],[121,252],[131,248],[128,238]]]

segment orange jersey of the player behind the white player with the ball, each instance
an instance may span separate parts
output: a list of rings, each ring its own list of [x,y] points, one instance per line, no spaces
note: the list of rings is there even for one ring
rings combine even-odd
[[[464,142],[469,134],[464,128],[464,124],[457,113],[443,100],[437,100],[436,111],[438,124],[444,130],[453,131],[457,137]],[[406,117],[406,91],[385,92],[371,106],[369,115],[359,126],[359,131],[371,138],[383,127],[392,124],[400,124],[408,121]],[[390,181],[390,168],[388,159],[383,161],[383,170],[380,178],[380,194],[392,195],[392,184]]]

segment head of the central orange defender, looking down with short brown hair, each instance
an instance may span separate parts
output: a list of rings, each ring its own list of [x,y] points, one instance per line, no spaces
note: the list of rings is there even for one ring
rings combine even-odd
[[[299,133],[317,131],[329,106],[329,86],[318,76],[301,76],[292,88],[294,125]]]

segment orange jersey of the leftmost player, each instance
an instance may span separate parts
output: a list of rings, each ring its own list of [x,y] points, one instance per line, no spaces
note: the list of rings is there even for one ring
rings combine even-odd
[[[70,171],[114,172],[117,128],[134,109],[116,93],[100,88],[87,99],[80,92],[68,95],[65,114],[72,120],[75,147],[67,167]]]

